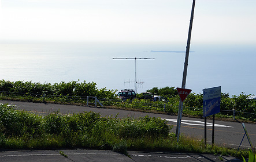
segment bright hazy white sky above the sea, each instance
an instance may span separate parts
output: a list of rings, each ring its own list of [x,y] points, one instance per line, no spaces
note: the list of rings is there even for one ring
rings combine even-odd
[[[0,40],[186,42],[192,0],[2,0]],[[255,0],[196,0],[194,43],[256,43]]]

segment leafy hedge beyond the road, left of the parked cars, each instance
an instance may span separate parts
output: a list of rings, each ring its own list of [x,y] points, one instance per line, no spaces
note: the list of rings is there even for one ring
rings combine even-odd
[[[61,83],[32,83],[32,82],[10,82],[0,80],[0,91],[7,94],[19,94],[19,95],[36,95],[35,97],[87,97],[97,96],[98,98],[109,98],[114,99],[116,97],[116,90],[107,90],[106,88],[97,89],[97,84],[72,81],[72,82],[61,82]]]

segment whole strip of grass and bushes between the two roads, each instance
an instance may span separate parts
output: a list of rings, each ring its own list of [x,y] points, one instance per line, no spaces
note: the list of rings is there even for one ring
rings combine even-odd
[[[0,147],[2,149],[112,149],[127,151],[165,151],[212,153],[248,157],[247,151],[207,145],[195,137],[181,134],[179,143],[172,126],[160,118],[100,117],[84,112],[46,116],[0,105]],[[65,156],[65,155],[63,155]]]

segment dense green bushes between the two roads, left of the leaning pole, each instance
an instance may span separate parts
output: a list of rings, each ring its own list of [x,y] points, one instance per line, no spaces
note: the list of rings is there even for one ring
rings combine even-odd
[[[91,111],[73,115],[62,115],[57,111],[39,116],[0,105],[2,148],[29,148],[31,145],[37,148],[101,148],[105,145],[106,148],[115,146],[115,151],[123,152],[125,145],[121,141],[124,139],[166,138],[170,129],[172,127],[166,121],[148,116],[139,119],[101,118],[100,114]],[[13,139],[16,139],[16,144],[13,144]]]

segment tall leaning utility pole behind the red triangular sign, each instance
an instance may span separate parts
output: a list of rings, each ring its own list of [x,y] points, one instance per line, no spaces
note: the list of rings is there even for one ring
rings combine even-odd
[[[190,17],[190,28],[188,29],[188,41],[187,41],[187,48],[185,51],[185,63],[184,63],[183,79],[182,79],[182,83],[181,83],[181,88],[185,88],[185,82],[187,79],[188,55],[190,53],[190,40],[191,40],[192,24],[193,24],[193,18],[194,18],[194,9],[195,9],[195,0],[193,0],[193,3],[192,3],[192,10],[191,10],[191,17]],[[180,136],[180,124],[181,124],[182,109],[183,109],[183,102],[181,102],[181,100],[180,100],[179,112],[178,112],[178,118],[177,118],[177,128],[176,128],[177,142],[179,142],[179,136]]]

